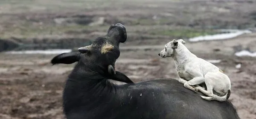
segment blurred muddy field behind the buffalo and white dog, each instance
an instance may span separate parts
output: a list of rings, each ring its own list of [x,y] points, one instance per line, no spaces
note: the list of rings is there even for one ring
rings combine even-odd
[[[134,82],[177,78],[157,54],[172,39],[230,77],[241,119],[256,119],[256,0],[0,0],[0,119],[63,119],[74,64],[49,64],[122,23],[116,70]]]

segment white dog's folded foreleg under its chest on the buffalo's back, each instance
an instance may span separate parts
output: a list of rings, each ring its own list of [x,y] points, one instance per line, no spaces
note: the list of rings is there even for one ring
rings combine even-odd
[[[184,83],[184,87],[186,87],[187,89],[190,89],[194,92],[197,92],[198,90],[192,86],[194,85],[198,85],[204,83],[204,77],[194,77],[191,80],[187,81],[186,83]]]

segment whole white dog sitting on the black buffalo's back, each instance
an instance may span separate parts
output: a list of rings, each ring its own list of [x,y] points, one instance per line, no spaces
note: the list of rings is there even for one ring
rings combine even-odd
[[[174,59],[179,82],[184,84],[184,87],[195,92],[199,90],[209,96],[201,96],[205,100],[226,101],[227,91],[231,88],[229,77],[217,66],[191,53],[185,43],[183,39],[173,40],[167,43],[158,55]],[[207,91],[198,86],[201,83],[206,84]],[[213,94],[213,90],[217,94]]]

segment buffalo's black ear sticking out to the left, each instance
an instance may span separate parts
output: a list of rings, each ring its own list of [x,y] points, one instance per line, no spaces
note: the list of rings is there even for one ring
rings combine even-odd
[[[51,63],[54,64],[72,64],[80,60],[81,53],[62,53],[52,58]]]

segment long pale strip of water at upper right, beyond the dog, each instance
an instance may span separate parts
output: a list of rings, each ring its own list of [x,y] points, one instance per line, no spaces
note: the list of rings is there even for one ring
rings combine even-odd
[[[220,30],[220,32],[230,32],[230,33],[198,36],[198,37],[189,39],[189,41],[198,42],[198,41],[224,40],[224,39],[231,39],[245,33],[252,33],[250,30],[229,30],[229,29],[222,29]]]

